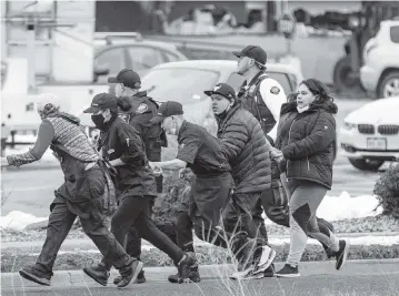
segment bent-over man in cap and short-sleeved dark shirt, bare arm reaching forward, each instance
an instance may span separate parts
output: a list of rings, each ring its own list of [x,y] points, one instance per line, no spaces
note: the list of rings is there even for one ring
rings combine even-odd
[[[233,190],[231,166],[218,140],[203,127],[187,122],[182,105],[178,102],[169,101],[161,104],[152,122],[162,122],[168,134],[177,135],[179,147],[177,159],[150,163],[151,167],[159,172],[164,169],[180,170],[180,175],[190,169],[196,175],[194,184],[191,185],[193,201],[189,210],[196,235],[202,241],[225,248],[229,247],[227,241],[231,239],[231,249],[237,258],[251,262],[256,239],[250,238],[246,233],[236,235],[221,233],[221,228],[218,227]],[[228,237],[227,241],[225,235]],[[184,232],[182,238],[179,238],[178,233],[181,245],[192,245],[191,228]],[[172,275],[169,282],[174,283],[176,278]],[[192,271],[190,279],[193,278],[199,279],[198,269]]]

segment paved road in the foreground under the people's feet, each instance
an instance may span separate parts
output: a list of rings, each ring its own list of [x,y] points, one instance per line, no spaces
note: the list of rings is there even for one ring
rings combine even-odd
[[[201,266],[202,282],[198,285],[173,285],[166,282],[174,268],[146,268],[148,282],[129,285],[118,290],[112,284],[102,287],[81,272],[56,272],[51,287],[42,287],[19,277],[18,274],[1,274],[1,295],[206,295],[206,296],[393,296],[399,294],[399,261],[348,262],[341,272],[333,268],[332,262],[302,263],[299,278],[263,278],[242,283],[242,290],[237,282],[226,278],[231,266]],[[280,268],[281,264],[277,264]],[[113,272],[111,277],[116,273]],[[225,278],[221,279],[221,276]]]

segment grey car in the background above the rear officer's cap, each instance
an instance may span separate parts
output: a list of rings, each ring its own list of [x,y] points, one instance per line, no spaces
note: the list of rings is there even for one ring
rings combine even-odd
[[[117,39],[111,44],[98,47],[94,52],[94,81],[107,82],[121,69],[133,69],[143,76],[161,63],[186,61],[187,57],[174,44],[159,41]]]

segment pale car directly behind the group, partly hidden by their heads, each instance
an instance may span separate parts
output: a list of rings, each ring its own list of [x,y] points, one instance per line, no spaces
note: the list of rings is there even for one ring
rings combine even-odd
[[[285,92],[297,91],[302,73],[287,64],[267,64],[268,74],[280,82]],[[237,62],[229,60],[191,60],[170,62],[152,68],[142,79],[142,90],[158,102],[178,101],[183,105],[187,119],[210,126],[215,124],[211,100],[203,91],[226,82],[237,70]],[[90,116],[79,115],[82,124],[93,129]]]

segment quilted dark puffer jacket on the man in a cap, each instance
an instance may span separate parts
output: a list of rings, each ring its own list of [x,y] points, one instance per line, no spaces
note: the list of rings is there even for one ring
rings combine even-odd
[[[236,193],[256,193],[270,187],[269,150],[257,119],[241,104],[217,118],[218,139],[231,165]]]

